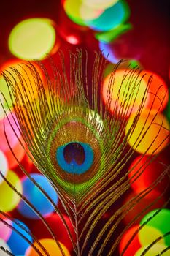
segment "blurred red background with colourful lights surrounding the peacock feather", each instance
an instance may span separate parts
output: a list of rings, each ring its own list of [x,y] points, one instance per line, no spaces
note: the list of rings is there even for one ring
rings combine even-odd
[[[166,119],[166,128],[169,130],[169,12],[169,0],[3,1],[0,7],[0,71],[3,72],[8,67],[15,67],[20,62],[32,61],[33,59],[49,64],[47,62],[47,54],[53,56],[53,59],[57,62],[58,50],[75,51],[77,48],[87,50],[89,59],[93,61],[93,52],[101,50],[104,58],[107,58],[107,74],[111,70],[110,67],[113,67],[121,59],[125,59],[127,65],[131,64],[134,67],[137,64],[144,69],[144,72],[153,75],[152,92],[157,91],[158,87],[163,85],[161,94],[164,95],[165,91],[167,91],[167,94],[160,115],[163,115]],[[7,102],[4,102],[4,99],[1,97],[1,101],[4,105],[7,105],[7,103],[10,105],[10,97],[2,75],[0,76],[0,91],[7,98]],[[42,211],[43,216],[47,217],[47,222],[53,225],[55,233],[59,236],[59,241],[63,248],[66,249],[66,255],[72,255],[72,244],[69,241],[66,230],[64,230],[61,219],[57,214],[53,213],[53,207],[51,208],[45,198],[42,198],[38,190],[34,191],[35,194],[32,192],[34,190],[33,184],[29,184],[29,181],[20,170],[17,160],[9,150],[3,132],[3,124],[4,110],[0,107],[1,172],[14,187],[17,187],[20,193],[25,193],[24,195],[28,196],[28,200],[31,200],[39,211]],[[22,165],[34,176],[37,182],[45,186],[50,197],[60,207],[58,196],[50,187],[45,177],[39,173],[30,159],[28,159],[18,140],[15,139],[15,134],[10,127],[7,127],[7,135],[12,150],[18,156]],[[136,152],[136,158],[141,157],[143,151]],[[136,161],[135,158],[134,161]],[[161,175],[162,165],[160,162],[169,165],[169,148],[161,154],[157,162],[153,162],[152,167],[145,172],[141,180],[134,183],[134,187],[131,187],[131,193],[125,195],[120,204],[128,200],[135,193],[140,192],[140,189],[144,189],[146,183],[147,185],[150,184],[150,182],[154,181],[154,178]],[[134,165],[134,162],[129,163],[130,165]],[[123,226],[127,225],[141,208],[147,206],[152,200],[161,195],[160,193],[163,192],[163,188],[167,186],[167,180],[169,180],[169,176],[164,178],[161,185],[156,188],[152,195],[144,198],[134,208],[133,212],[130,211],[130,214],[127,214],[125,219],[123,219]],[[161,197],[161,200],[158,200],[156,205],[147,212],[148,216],[150,217],[151,210],[155,211],[155,209],[162,207],[163,203],[167,200],[169,200],[169,193],[166,192]],[[43,202],[44,208],[42,208],[42,203],[39,203],[40,201]],[[1,219],[4,219],[4,222],[10,222],[12,227],[16,225],[15,219],[20,219],[38,239],[44,239],[42,244],[45,244],[45,248],[49,249],[51,255],[56,255],[50,251],[54,245],[53,241],[50,241],[51,244],[48,244],[47,238],[50,239],[49,233],[45,230],[45,227],[43,229],[42,223],[34,216],[34,213],[32,211],[29,212],[28,208],[24,207],[22,202],[20,203],[20,197],[15,195],[15,192],[12,192],[12,189],[9,189],[6,182],[0,177]],[[2,211],[7,213],[11,219],[7,220],[7,216],[2,214]],[[104,215],[104,219],[108,219],[113,211],[111,209],[107,212]],[[65,218],[71,232],[74,234],[69,218],[67,216]],[[144,240],[144,237],[147,236],[146,234],[155,234],[152,237],[154,239],[156,236],[161,236],[170,231],[169,206],[166,206],[161,211],[158,218],[155,220],[155,223],[144,230],[145,233],[140,234],[140,237],[135,237],[132,245],[129,246],[129,251],[125,252],[125,256],[141,255],[141,247],[153,241]],[[34,252],[28,252],[30,244],[24,241],[23,238],[20,238],[13,230],[10,230],[7,225],[4,225],[4,222],[0,222],[0,246],[12,252],[13,255],[36,255]],[[144,216],[127,230],[120,245],[117,246],[114,256],[120,255],[123,252],[128,239],[142,222],[144,222]],[[158,225],[158,222],[161,222],[161,225]],[[16,228],[17,230],[19,229],[18,225],[16,225]],[[23,229],[20,232],[23,233]],[[28,240],[30,243],[33,242],[31,236],[28,236]],[[18,244],[20,244],[19,247]],[[168,246],[170,246],[170,236],[166,236],[166,241],[163,241],[155,249],[153,248],[150,256],[157,255],[158,249],[163,250]],[[166,253],[170,255],[170,251]],[[166,255],[166,253],[163,255]],[[6,254],[1,250],[0,256],[2,255]],[[58,255],[60,255],[60,252],[58,252]]]

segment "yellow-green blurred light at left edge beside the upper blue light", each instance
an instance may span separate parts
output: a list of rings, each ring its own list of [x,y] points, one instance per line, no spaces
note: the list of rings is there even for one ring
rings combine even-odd
[[[7,173],[7,181],[9,181],[18,192],[22,193],[22,184],[20,178],[9,170]],[[20,202],[20,196],[7,184],[6,181],[3,181],[0,184],[0,210],[1,211],[12,211],[18,203]]]

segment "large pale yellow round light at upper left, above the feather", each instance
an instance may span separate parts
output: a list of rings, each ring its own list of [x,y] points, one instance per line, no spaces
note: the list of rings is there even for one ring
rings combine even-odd
[[[9,50],[20,59],[45,59],[55,46],[53,20],[30,18],[18,23],[9,35]]]

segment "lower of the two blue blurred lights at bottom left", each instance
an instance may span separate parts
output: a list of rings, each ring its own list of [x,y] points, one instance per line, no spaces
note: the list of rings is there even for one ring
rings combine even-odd
[[[26,237],[28,241],[32,243],[33,239],[27,225],[25,225],[23,222],[20,222],[18,219],[15,219],[15,221],[16,222],[12,222],[12,227],[14,227],[18,232]],[[26,249],[30,245],[26,239],[20,236],[20,234],[15,230],[12,230],[12,234],[9,237],[7,244],[9,245],[13,255],[25,255]]]

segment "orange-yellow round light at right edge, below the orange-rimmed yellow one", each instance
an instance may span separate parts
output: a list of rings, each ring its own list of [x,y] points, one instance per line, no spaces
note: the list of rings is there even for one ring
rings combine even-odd
[[[125,134],[131,129],[135,114],[128,118]],[[163,114],[144,111],[133,131],[128,135],[129,145],[140,154],[157,154],[169,143],[169,122]]]

